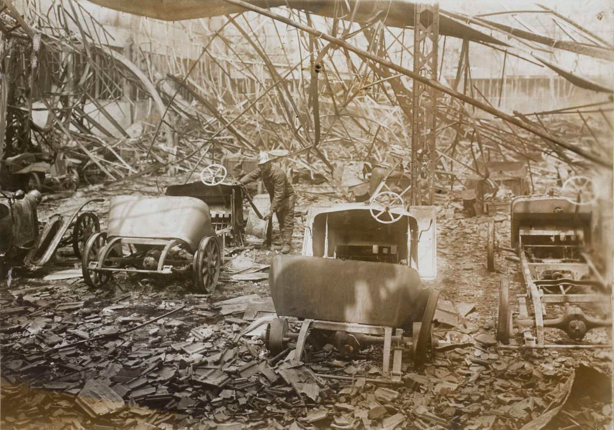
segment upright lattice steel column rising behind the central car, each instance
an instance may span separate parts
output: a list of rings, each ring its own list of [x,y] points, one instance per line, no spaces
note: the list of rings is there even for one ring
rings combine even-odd
[[[414,72],[437,80],[439,5],[414,7]],[[435,88],[413,82],[411,205],[432,205],[435,180]]]

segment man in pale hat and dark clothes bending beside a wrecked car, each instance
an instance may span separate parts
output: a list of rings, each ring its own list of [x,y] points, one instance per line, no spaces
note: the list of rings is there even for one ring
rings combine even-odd
[[[277,215],[279,230],[281,233],[282,248],[281,252],[287,254],[292,251],[292,233],[294,231],[294,202],[295,193],[281,168],[273,166],[266,152],[258,154],[258,168],[241,178],[241,184],[246,185],[262,178],[265,183],[266,191],[271,196],[271,207],[264,219],[271,219],[273,213]],[[269,229],[272,228],[269,221]]]

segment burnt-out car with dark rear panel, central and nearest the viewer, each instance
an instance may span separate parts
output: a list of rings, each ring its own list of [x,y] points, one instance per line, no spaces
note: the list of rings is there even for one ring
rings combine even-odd
[[[404,349],[413,351],[416,365],[427,360],[439,292],[421,278],[437,275],[434,209],[387,208],[396,220],[387,223],[372,209],[364,203],[312,207],[302,256],[274,257],[269,287],[278,318],[266,331],[272,354],[295,339],[299,361],[309,335],[348,355],[379,343],[384,375],[394,381],[401,378]],[[293,321],[298,334],[289,330]]]

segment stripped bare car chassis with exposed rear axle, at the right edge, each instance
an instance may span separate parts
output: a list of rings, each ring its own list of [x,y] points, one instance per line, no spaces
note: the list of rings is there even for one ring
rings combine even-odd
[[[588,186],[587,178],[577,176],[570,180]],[[495,322],[497,340],[509,343],[516,326],[523,332],[526,347],[565,346],[562,343],[545,343],[544,329],[555,328],[563,330],[575,341],[568,346],[578,346],[578,341],[585,337],[588,330],[612,326],[611,317],[588,316],[580,307],[580,303],[592,304],[593,307],[610,303],[608,283],[588,252],[593,246],[593,203],[594,199],[580,201],[554,195],[516,197],[511,201],[511,249],[497,246],[494,221],[489,222],[489,262],[497,248],[516,251],[527,291],[524,295],[518,295],[519,315],[513,316],[510,279],[508,275],[502,276]],[[529,316],[527,299],[532,304],[532,316]],[[564,311],[556,318],[545,318],[548,312],[546,305],[562,305]],[[612,315],[609,306],[607,310],[601,310]],[[535,335],[531,334],[531,329],[535,330]]]

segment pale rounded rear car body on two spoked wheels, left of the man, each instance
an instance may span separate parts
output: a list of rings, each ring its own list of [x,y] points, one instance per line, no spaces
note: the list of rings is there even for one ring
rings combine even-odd
[[[109,227],[90,236],[82,270],[91,287],[103,287],[114,272],[192,275],[198,291],[215,289],[222,243],[209,207],[194,197],[117,196]]]

